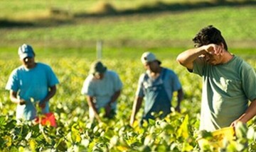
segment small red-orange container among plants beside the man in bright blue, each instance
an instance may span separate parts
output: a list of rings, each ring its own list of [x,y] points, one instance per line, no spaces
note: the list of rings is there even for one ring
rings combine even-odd
[[[57,127],[53,112],[43,114],[41,117],[36,117],[36,122],[43,126],[50,124],[51,127]]]

